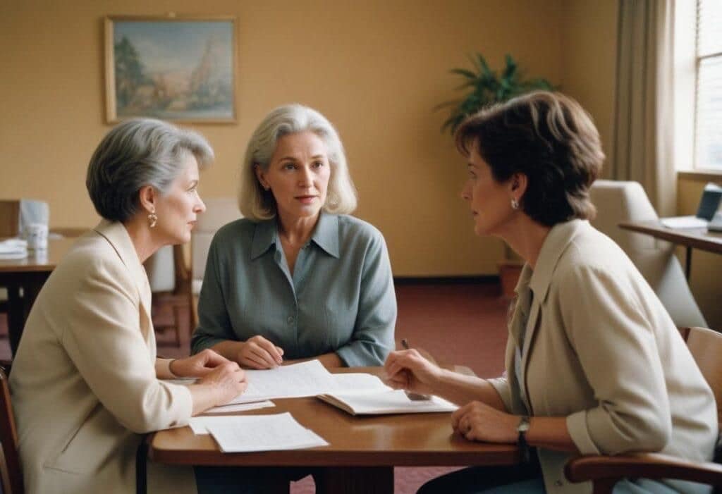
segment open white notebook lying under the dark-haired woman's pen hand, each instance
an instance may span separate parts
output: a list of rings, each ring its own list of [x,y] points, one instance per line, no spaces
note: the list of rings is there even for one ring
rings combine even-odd
[[[458,407],[443,398],[409,400],[403,389],[366,393],[319,394],[319,400],[339,407],[351,415],[386,415],[391,413],[453,412]]]

